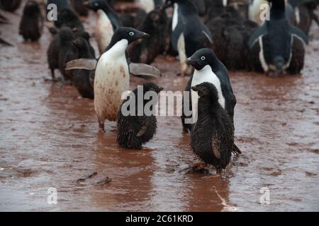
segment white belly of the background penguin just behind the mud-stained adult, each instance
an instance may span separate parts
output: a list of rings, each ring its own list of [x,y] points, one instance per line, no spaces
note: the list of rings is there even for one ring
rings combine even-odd
[[[114,34],[111,20],[108,18],[106,13],[99,9],[97,11],[96,21],[96,41],[98,42],[99,52],[105,51],[108,44],[110,44],[112,36]]]

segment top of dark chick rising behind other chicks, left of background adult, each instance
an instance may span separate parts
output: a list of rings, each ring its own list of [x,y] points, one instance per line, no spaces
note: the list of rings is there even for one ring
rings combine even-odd
[[[77,13],[74,13],[74,11],[72,11],[72,9],[70,8],[63,8],[60,12],[57,13],[55,27],[68,27],[72,30],[84,30],[82,21],[77,16]]]

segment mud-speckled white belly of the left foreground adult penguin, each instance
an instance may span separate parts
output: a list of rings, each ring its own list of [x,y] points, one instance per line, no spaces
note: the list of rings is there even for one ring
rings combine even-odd
[[[107,54],[107,53],[106,53]],[[124,57],[108,61],[102,56],[94,78],[94,108],[100,121],[116,121],[123,92],[129,89],[130,73]]]

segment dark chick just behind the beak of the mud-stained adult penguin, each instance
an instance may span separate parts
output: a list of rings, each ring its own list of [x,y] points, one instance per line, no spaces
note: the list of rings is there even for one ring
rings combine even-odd
[[[128,47],[130,61],[151,64],[155,58],[165,50],[165,34],[167,14],[164,10],[151,11],[138,30],[146,32],[150,38],[135,42]]]

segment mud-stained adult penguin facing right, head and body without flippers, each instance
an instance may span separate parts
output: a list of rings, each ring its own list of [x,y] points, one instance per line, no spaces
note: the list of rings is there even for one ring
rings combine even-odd
[[[133,28],[118,28],[96,65],[94,109],[101,130],[104,130],[106,119],[116,121],[121,96],[129,88],[130,71],[125,56],[126,48],[131,42],[144,37],[149,35]]]

